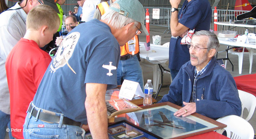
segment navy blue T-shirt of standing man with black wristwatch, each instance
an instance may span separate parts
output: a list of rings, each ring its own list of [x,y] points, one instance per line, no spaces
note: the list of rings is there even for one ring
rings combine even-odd
[[[208,0],[184,1],[178,14],[179,23],[196,31],[208,30],[211,24],[212,10]],[[187,44],[180,44],[182,37],[171,37],[169,44],[169,68],[180,70],[190,60]]]

